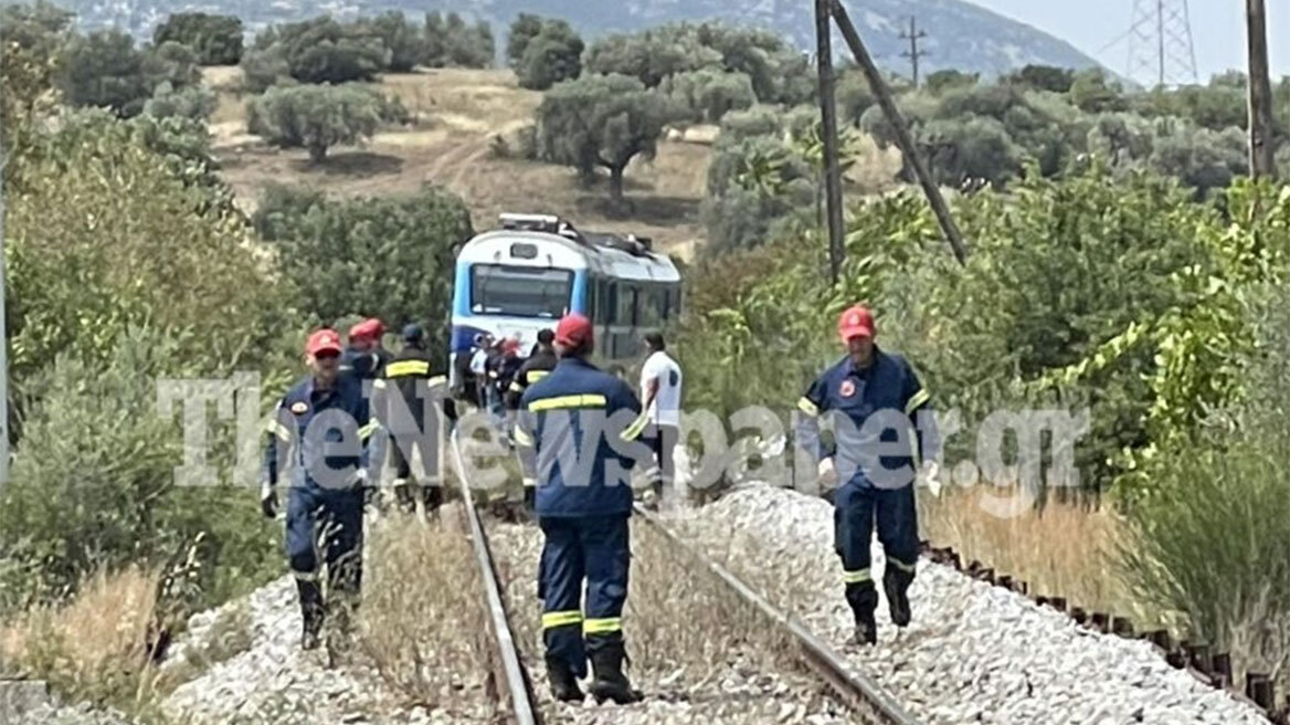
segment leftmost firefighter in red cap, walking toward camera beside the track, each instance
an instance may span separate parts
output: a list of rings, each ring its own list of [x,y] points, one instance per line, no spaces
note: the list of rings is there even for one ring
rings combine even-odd
[[[306,343],[311,368],[283,396],[270,422],[261,482],[261,511],[277,516],[275,486],[289,470],[286,557],[299,593],[303,649],[329,633],[344,635],[362,584],[362,502],[369,480],[369,440],[379,423],[370,415],[362,383],[342,375],[341,335],[317,330]],[[284,466],[285,463],[285,466]],[[319,559],[322,561],[319,561]],[[326,564],[328,600],[319,586]],[[332,640],[343,646],[343,639]],[[329,648],[335,651],[335,646]]]

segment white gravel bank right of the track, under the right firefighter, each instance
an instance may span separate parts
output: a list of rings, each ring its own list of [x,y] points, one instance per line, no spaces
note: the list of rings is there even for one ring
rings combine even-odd
[[[890,623],[884,597],[878,645],[851,645],[832,507],[819,498],[744,486],[689,512],[682,524],[713,553],[752,550],[730,566],[771,596],[780,592],[778,604],[928,725],[1268,722],[1255,707],[1174,670],[1146,641],[1085,630],[1019,593],[928,560],[918,562],[909,590],[911,626],[899,631]],[[875,579],[882,564],[875,542]]]

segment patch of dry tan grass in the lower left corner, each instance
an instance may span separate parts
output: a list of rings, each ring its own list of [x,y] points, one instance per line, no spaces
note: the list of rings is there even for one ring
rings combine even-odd
[[[160,573],[98,574],[63,605],[43,605],[0,624],[6,673],[49,681],[72,700],[138,710],[152,697],[148,637]]]

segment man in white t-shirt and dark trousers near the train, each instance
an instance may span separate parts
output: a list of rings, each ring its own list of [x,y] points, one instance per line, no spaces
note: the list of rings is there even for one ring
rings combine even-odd
[[[654,448],[654,466],[646,472],[657,498],[672,493],[676,463],[672,452],[681,431],[681,366],[667,353],[659,333],[645,335],[649,357],[641,368],[641,401],[649,426],[645,436]]]

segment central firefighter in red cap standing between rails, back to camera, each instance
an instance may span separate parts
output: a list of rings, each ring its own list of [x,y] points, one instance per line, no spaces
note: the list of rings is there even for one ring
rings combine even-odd
[[[649,450],[636,440],[644,428],[636,424],[640,400],[627,383],[588,361],[593,347],[587,317],[560,320],[560,362],[524,391],[515,437],[525,475],[538,480],[544,537],[538,596],[552,693],[582,700],[578,679],[587,676],[590,657],[591,695],[624,704],[641,698],[622,670],[631,470]]]

